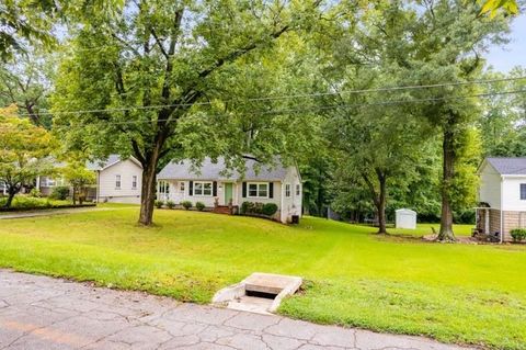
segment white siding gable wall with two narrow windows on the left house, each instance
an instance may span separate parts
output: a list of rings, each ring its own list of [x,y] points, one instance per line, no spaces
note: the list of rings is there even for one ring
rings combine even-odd
[[[116,188],[116,176],[121,176],[121,189]],[[137,188],[132,187],[137,177]],[[126,159],[99,172],[99,202],[140,203],[142,169],[133,160]]]

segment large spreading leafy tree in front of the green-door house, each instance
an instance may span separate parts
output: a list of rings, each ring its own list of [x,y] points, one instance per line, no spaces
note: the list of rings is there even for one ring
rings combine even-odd
[[[70,58],[54,95],[56,125],[68,131],[70,145],[90,147],[99,157],[133,154],[141,162],[139,223],[150,225],[156,174],[169,160],[249,153],[265,160],[279,150],[278,127],[289,128],[285,120],[252,123],[254,116],[243,123],[247,104],[236,105],[225,91],[238,88],[232,82],[255,87],[243,79],[247,66],[264,67],[258,55],[312,20],[316,8],[309,1],[158,0],[92,13],[71,29]],[[82,110],[95,112],[60,113]],[[245,138],[227,135],[239,125]],[[265,142],[259,134],[271,137]]]

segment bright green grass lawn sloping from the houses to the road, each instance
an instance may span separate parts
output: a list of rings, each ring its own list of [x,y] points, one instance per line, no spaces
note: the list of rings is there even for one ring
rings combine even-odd
[[[0,266],[207,303],[254,271],[297,274],[279,312],[318,323],[524,349],[526,248],[378,237],[320,218],[265,219],[137,207],[0,222]],[[67,228],[67,229],[65,229]],[[425,229],[425,227],[424,227]]]

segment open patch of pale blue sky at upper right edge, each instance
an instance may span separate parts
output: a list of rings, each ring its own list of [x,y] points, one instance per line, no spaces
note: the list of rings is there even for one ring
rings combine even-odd
[[[494,70],[507,72],[515,66],[526,67],[526,13],[513,21],[511,30],[511,42],[505,46],[492,46],[487,55]]]

